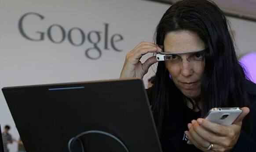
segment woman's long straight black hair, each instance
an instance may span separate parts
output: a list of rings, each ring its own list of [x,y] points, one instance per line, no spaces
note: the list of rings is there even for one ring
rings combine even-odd
[[[165,12],[157,25],[157,45],[163,46],[168,32],[188,30],[196,33],[208,48],[201,76],[202,116],[213,107],[249,106],[245,74],[236,57],[229,26],[223,12],[210,0],[179,1]],[[164,62],[157,65],[153,100],[154,119],[161,135],[170,110],[184,101],[184,95],[169,78]]]

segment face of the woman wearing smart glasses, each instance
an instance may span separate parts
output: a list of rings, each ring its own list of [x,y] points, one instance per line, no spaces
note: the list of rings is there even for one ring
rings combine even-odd
[[[205,43],[190,31],[169,32],[165,35],[164,51],[184,53],[166,60],[165,66],[174,84],[187,97],[194,99],[201,93],[201,75],[204,71],[204,57],[201,53],[187,53],[205,49]]]

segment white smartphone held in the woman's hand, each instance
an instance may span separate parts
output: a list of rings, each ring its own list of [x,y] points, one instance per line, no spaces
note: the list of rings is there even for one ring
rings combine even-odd
[[[229,126],[230,124],[233,124],[234,120],[236,120],[241,113],[242,110],[238,107],[212,108],[209,110],[205,119],[216,124]]]

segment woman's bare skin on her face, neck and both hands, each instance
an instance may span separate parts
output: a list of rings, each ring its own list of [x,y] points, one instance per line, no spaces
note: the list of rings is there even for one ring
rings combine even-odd
[[[205,49],[205,44],[196,33],[181,30],[165,35],[164,49],[165,52],[190,52]],[[154,43],[140,42],[127,53],[120,78],[142,79],[149,67],[157,60],[153,56],[141,63],[140,58],[147,53],[159,53],[161,51],[163,50]],[[177,88],[188,98],[194,100],[201,94],[201,74],[204,71],[204,61],[200,64],[192,64],[187,61],[187,54],[182,54],[180,57],[182,57],[182,63],[173,65],[169,61],[165,61],[165,65]],[[190,102],[187,103],[187,106],[192,109]],[[199,106],[201,106],[200,102]],[[204,152],[229,152],[238,141],[243,118],[249,113],[249,108],[243,107],[241,109],[241,115],[230,126],[222,126],[198,118],[188,124],[188,130],[185,131],[185,134],[191,144]],[[213,144],[213,148],[207,150],[210,143]]]

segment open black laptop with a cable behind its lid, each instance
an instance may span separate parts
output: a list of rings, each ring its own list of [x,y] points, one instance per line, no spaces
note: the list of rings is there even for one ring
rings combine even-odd
[[[162,152],[139,79],[2,91],[27,152]]]

